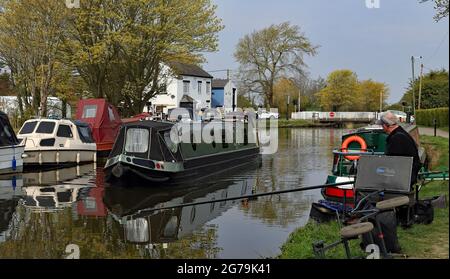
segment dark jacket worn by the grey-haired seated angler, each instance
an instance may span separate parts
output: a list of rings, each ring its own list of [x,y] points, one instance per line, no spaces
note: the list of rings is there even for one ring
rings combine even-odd
[[[398,127],[388,136],[386,155],[413,157],[411,184],[413,185],[417,182],[417,175],[422,167],[419,158],[419,150],[414,139],[402,127]]]

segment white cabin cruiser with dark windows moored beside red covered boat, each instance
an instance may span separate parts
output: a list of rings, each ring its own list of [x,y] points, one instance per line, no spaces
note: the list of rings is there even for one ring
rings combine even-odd
[[[25,145],[25,166],[75,165],[97,160],[91,130],[82,122],[32,119],[23,124],[18,138]]]

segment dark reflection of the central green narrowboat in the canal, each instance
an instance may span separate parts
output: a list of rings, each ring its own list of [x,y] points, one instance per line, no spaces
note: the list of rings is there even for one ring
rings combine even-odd
[[[254,178],[242,178],[170,189],[107,187],[104,201],[122,226],[126,241],[138,244],[169,243],[191,234],[239,201],[212,202],[170,210],[158,208],[249,195],[254,185]]]

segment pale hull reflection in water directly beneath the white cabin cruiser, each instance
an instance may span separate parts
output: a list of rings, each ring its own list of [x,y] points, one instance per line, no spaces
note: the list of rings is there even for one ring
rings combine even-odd
[[[40,170],[38,172],[23,173],[23,183],[25,186],[50,186],[61,182],[77,179],[79,177],[92,174],[95,171],[94,164],[79,165],[70,168],[58,168]],[[81,183],[87,183],[86,179]],[[78,183],[78,184],[81,184]]]

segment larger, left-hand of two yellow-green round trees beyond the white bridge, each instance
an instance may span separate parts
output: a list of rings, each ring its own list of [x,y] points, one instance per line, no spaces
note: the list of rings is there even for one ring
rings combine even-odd
[[[327,86],[318,93],[322,109],[354,111],[358,98],[358,78],[350,70],[337,70],[327,78]]]

